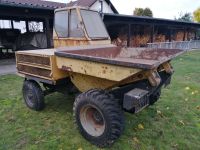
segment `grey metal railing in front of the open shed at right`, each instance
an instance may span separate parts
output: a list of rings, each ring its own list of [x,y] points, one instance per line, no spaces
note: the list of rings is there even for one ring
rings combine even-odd
[[[148,48],[182,49],[188,51],[188,50],[200,49],[200,40],[157,42],[157,43],[148,43],[147,45]]]

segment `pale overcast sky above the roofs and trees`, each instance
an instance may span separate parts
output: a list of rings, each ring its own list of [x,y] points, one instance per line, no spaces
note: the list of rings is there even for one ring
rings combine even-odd
[[[71,0],[49,0],[67,3]],[[174,19],[180,13],[193,13],[200,0],[111,0],[120,14],[132,15],[135,8],[149,7],[156,18]]]

